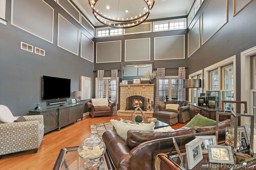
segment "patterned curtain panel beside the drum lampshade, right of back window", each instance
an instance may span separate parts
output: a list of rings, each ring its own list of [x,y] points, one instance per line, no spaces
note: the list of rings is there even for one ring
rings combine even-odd
[[[179,67],[178,71],[178,100],[186,100],[186,89],[183,88],[183,80],[186,79],[186,68]]]

